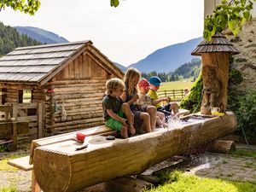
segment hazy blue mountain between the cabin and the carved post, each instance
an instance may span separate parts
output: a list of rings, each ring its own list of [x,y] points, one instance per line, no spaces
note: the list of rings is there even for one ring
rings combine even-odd
[[[157,73],[169,73],[184,63],[190,62],[195,56],[191,55],[193,49],[203,38],[193,38],[181,44],[172,44],[162,49],[157,49],[145,59],[131,64],[142,73],[156,71]]]

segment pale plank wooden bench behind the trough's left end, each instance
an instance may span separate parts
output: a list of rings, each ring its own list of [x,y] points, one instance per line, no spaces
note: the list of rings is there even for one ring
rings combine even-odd
[[[73,140],[76,137],[77,132],[84,133],[86,136],[93,136],[93,135],[107,136],[107,135],[116,134],[116,131],[113,131],[112,129],[110,129],[105,125],[102,125],[102,126],[93,127],[90,129],[85,129],[82,131],[74,131],[74,132],[61,134],[53,137],[44,137],[44,138],[36,139],[36,140],[33,140],[31,143],[30,155],[27,155],[25,157],[20,157],[14,160],[9,160],[8,164],[10,166],[15,166],[16,168],[19,168],[20,170],[23,170],[25,172],[32,171],[32,192],[41,192],[41,189],[37,183],[37,179],[34,175],[33,165],[32,165],[34,149],[44,145]]]

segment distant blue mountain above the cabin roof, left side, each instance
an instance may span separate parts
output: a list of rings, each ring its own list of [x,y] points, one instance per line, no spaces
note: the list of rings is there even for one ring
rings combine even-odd
[[[66,38],[62,38],[53,32],[40,29],[33,26],[15,26],[20,34],[26,34],[27,37],[36,39],[43,44],[60,44],[67,43]]]

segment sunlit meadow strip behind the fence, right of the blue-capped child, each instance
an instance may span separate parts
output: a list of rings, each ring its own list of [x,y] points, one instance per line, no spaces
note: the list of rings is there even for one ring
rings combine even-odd
[[[186,82],[186,81],[172,81],[172,82],[164,82],[160,86],[160,91],[162,90],[182,90],[184,88],[191,89],[192,85],[195,82]]]

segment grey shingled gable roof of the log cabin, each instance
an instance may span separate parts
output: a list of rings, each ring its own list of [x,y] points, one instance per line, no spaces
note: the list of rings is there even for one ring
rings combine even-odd
[[[44,84],[86,49],[104,60],[106,71],[123,78],[123,71],[88,40],[17,48],[0,58],[0,81]]]

